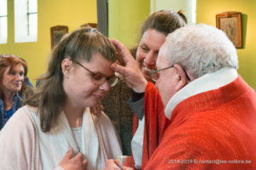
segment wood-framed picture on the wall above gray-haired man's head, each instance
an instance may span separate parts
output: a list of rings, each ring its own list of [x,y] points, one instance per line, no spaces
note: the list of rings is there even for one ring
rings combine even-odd
[[[216,14],[216,26],[226,33],[236,48],[242,48],[240,12]]]

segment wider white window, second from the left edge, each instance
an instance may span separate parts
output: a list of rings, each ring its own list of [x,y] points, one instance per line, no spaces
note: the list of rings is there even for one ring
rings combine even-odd
[[[35,1],[35,2],[32,2]],[[33,22],[34,29],[29,31],[29,3],[36,3],[37,19]],[[15,42],[37,42],[38,41],[38,0],[15,0]]]

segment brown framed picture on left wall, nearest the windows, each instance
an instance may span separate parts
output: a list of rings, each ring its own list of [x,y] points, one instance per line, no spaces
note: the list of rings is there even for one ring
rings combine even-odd
[[[68,32],[67,26],[52,26],[50,27],[50,43],[51,48],[54,48],[55,45],[61,41],[63,37]]]

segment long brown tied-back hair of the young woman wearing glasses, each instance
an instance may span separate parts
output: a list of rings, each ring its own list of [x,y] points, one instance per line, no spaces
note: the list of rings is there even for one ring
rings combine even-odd
[[[39,85],[25,104],[38,107],[40,126],[43,132],[55,127],[62,107],[66,101],[63,89],[63,59],[86,60],[90,62],[93,54],[99,53],[111,62],[116,61],[117,54],[113,44],[96,29],[81,28],[73,31],[55,46],[49,56],[48,71],[39,77]]]

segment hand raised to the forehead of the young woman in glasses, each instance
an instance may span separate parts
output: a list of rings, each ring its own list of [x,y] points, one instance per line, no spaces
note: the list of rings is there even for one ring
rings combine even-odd
[[[119,54],[120,65],[113,63],[110,68],[119,73],[133,91],[143,93],[147,87],[148,81],[143,76],[143,72],[138,67],[136,60],[121,42],[115,39],[112,39],[111,42],[113,42]]]

